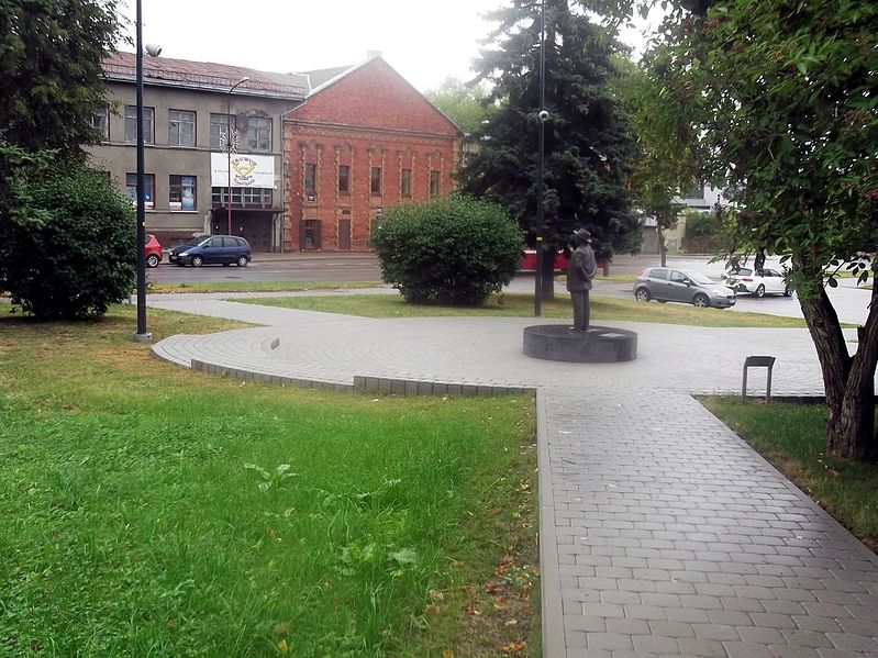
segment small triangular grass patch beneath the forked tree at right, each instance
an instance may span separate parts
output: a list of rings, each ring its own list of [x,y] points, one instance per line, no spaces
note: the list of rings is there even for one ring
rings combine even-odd
[[[701,403],[878,553],[878,464],[826,455],[824,405],[731,397]]]

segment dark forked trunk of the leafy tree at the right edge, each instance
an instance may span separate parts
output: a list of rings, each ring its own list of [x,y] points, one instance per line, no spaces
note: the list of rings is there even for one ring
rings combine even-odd
[[[821,277],[821,275],[818,275]],[[878,458],[875,432],[875,369],[878,363],[878,280],[873,280],[871,305],[866,325],[857,330],[854,356],[821,278],[812,293],[800,294],[808,330],[823,371],[829,408],[826,449],[847,459]]]

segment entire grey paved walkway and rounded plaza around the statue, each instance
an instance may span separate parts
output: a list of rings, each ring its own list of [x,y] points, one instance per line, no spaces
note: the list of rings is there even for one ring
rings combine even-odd
[[[211,295],[149,304],[260,325],[154,346],[189,367],[414,382],[400,392],[536,390],[549,658],[878,657],[878,558],[691,397],[740,392],[753,354],[778,357],[776,394],[819,394],[804,330],[620,322],[640,335],[637,360],[571,365],[521,353],[533,319],[369,320]],[[751,380],[754,392],[765,378]]]

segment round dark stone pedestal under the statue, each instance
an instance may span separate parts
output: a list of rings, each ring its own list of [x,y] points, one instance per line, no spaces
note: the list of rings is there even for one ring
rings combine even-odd
[[[524,354],[537,359],[580,364],[612,364],[637,358],[637,334],[591,325],[575,332],[563,324],[524,327]]]

